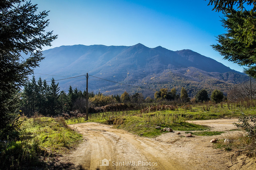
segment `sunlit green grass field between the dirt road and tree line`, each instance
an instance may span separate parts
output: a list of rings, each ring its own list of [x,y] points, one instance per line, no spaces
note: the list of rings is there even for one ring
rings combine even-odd
[[[136,135],[155,137],[161,135],[161,128],[169,127],[180,131],[194,132],[195,135],[219,135],[221,132],[204,131],[208,127],[188,123],[186,120],[212,120],[238,118],[241,112],[246,115],[256,115],[256,101],[221,102],[215,104],[211,101],[198,104],[183,104],[173,110],[161,110],[143,113],[141,111],[103,112],[89,114],[89,120],[72,118],[66,120],[67,124],[99,122],[113,124],[114,128],[122,128]]]

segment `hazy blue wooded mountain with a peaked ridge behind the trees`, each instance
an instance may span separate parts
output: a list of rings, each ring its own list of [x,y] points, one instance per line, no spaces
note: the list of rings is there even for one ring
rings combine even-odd
[[[224,66],[216,60],[192,50],[172,51],[161,46],[148,48],[143,44],[133,46],[72,45],[43,51],[45,59],[35,73],[74,77],[89,75],[89,90],[105,94],[142,92],[145,97],[154,96],[161,88],[188,90],[190,97],[202,88],[211,92],[218,89],[227,92],[233,84],[248,80],[244,73]],[[36,78],[50,81],[52,76],[35,74]],[[64,77],[55,77],[55,80]],[[102,80],[106,79],[106,80]],[[111,81],[132,86],[125,86]],[[62,90],[85,89],[85,76],[58,81]]]

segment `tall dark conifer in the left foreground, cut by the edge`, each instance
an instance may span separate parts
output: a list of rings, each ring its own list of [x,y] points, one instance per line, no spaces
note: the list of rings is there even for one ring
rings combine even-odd
[[[42,46],[57,38],[44,33],[49,24],[48,12],[36,14],[37,4],[24,0],[2,0],[0,6],[0,137],[17,131],[19,124],[20,86],[43,59]],[[26,59],[21,52],[30,54]]]

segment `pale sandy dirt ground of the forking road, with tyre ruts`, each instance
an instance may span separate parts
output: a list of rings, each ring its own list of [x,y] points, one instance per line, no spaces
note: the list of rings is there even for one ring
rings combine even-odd
[[[232,124],[236,121],[193,121],[210,126],[212,131],[226,131],[221,135],[184,137],[184,131],[175,131],[156,138],[132,135],[99,123],[70,125],[84,136],[84,140],[62,161],[71,163],[69,169],[256,169],[256,160],[244,155],[234,157],[234,151],[215,149],[210,143],[212,138],[243,134],[242,131],[228,131],[236,128]]]

